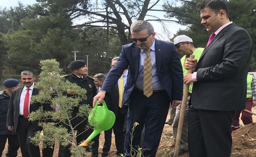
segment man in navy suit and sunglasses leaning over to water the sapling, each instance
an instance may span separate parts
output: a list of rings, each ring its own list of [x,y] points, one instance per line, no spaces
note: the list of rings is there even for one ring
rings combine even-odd
[[[98,103],[102,103],[106,92],[111,92],[129,66],[130,73],[122,97],[122,105],[130,98],[124,153],[126,156],[136,154],[145,124],[143,154],[155,156],[169,103],[172,101],[172,106],[181,103],[182,67],[173,43],[154,39],[156,32],[149,22],[135,21],[131,25],[131,34],[134,43],[122,46],[119,59],[107,75],[101,91],[94,97],[94,103],[98,99]],[[135,122],[139,125],[133,129]]]

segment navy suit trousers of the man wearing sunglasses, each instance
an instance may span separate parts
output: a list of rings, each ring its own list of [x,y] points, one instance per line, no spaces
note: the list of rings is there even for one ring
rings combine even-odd
[[[127,131],[124,141],[125,156],[136,154],[145,123],[143,155],[154,157],[161,139],[165,120],[169,111],[170,99],[166,91],[153,93],[149,98],[134,89],[127,115]],[[134,123],[139,125],[133,129]],[[132,139],[131,139],[131,133]],[[132,149],[131,149],[132,147]]]

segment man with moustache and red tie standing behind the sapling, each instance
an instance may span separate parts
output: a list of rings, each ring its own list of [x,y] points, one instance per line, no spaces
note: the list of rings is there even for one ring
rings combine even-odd
[[[29,121],[29,113],[39,109],[40,103],[30,104],[32,95],[38,94],[38,89],[34,88],[34,73],[30,71],[21,72],[21,82],[24,86],[12,90],[7,113],[6,126],[9,131],[17,132],[18,142],[23,157],[40,157],[39,146],[30,142],[36,131],[41,131],[38,126],[39,121]]]

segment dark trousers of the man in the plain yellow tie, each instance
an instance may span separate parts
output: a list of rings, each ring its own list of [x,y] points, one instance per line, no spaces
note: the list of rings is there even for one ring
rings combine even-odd
[[[116,144],[116,155],[124,154],[124,137],[127,129],[127,112],[128,106],[118,107],[118,113],[116,117],[115,124],[113,126],[113,131],[115,134],[115,144]]]

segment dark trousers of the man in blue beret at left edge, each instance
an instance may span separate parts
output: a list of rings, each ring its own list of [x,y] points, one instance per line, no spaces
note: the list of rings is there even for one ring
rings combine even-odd
[[[0,135],[0,156],[2,156],[2,153],[5,149],[7,139],[8,151],[6,153],[6,157],[16,157],[17,150],[19,149],[19,142],[16,134]]]

